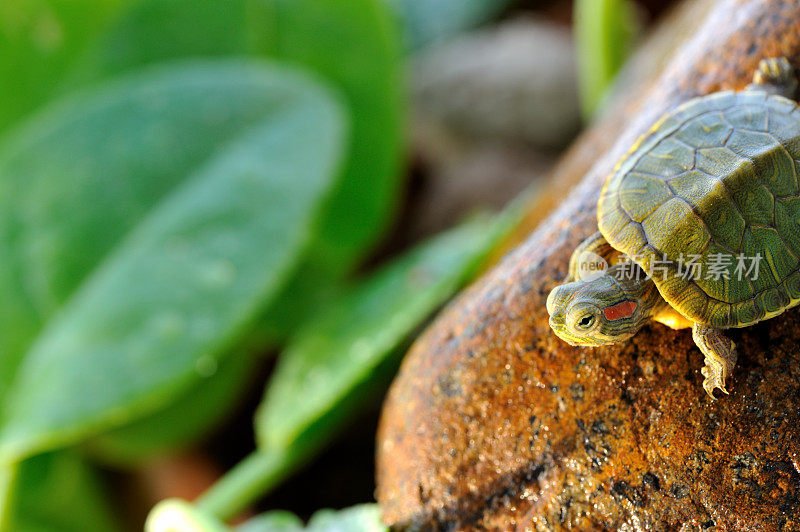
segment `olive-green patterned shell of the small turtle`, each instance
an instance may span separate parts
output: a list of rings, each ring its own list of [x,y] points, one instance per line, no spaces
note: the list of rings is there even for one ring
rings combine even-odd
[[[760,91],[697,98],[620,161],[598,225],[683,316],[744,327],[800,303],[798,165],[795,102]]]

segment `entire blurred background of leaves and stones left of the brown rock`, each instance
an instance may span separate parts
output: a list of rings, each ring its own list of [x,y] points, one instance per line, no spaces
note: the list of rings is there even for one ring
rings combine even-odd
[[[380,530],[402,354],[671,3],[0,3],[0,530]]]

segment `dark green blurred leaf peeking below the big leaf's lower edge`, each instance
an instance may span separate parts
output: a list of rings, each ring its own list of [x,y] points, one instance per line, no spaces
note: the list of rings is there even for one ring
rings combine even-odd
[[[219,368],[174,400],[167,408],[101,434],[88,442],[93,455],[121,465],[185,447],[218,425],[247,392],[258,359],[237,350],[220,360]]]

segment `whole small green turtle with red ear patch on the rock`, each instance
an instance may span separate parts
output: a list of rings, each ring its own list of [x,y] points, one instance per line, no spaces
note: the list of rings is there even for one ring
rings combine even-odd
[[[558,337],[599,346],[650,320],[691,327],[703,388],[728,393],[726,330],[800,304],[796,92],[789,61],[763,59],[745,89],[689,100],[633,144],[601,190],[599,231],[547,298]]]

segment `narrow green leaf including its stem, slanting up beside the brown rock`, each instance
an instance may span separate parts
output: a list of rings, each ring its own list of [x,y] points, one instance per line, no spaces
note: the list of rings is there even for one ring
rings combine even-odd
[[[383,389],[398,347],[447,300],[507,232],[478,218],[440,235],[352,286],[298,331],[256,416],[260,450],[199,500],[227,518],[317,453]],[[382,371],[383,370],[383,371]]]

